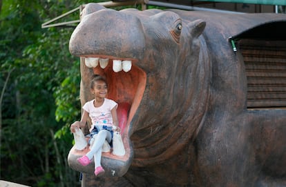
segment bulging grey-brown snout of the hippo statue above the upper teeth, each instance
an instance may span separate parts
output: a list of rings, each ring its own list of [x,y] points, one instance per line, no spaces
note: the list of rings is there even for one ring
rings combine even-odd
[[[133,23],[132,27],[130,23]],[[105,58],[108,54],[108,57],[113,57],[111,59],[143,59],[145,40],[140,19],[104,9],[83,15],[70,37],[69,50],[78,57],[91,55]]]

